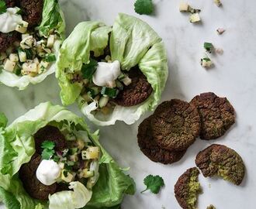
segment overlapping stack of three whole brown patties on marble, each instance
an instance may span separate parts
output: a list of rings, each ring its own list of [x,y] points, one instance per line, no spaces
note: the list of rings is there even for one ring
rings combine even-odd
[[[216,139],[234,124],[234,108],[227,98],[203,93],[190,103],[178,99],[164,101],[139,126],[138,144],[154,162],[175,163],[200,135]]]

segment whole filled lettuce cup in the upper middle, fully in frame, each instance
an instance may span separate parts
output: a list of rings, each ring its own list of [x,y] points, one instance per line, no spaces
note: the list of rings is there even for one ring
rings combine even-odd
[[[112,27],[79,23],[61,46],[56,77],[63,105],[77,101],[96,125],[130,125],[160,100],[167,54],[146,22],[120,13]]]

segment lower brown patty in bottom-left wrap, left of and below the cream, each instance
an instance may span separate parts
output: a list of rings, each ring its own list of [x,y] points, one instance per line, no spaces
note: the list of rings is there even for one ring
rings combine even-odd
[[[36,170],[40,164],[41,156],[34,154],[29,163],[23,164],[19,170],[19,178],[22,180],[26,192],[38,200],[48,200],[49,194],[54,194],[57,183],[46,186],[36,178]]]

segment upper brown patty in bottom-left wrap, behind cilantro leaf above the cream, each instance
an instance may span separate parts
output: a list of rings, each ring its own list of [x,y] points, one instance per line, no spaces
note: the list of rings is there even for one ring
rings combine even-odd
[[[59,128],[52,125],[40,128],[40,130],[34,135],[34,139],[36,143],[36,152],[39,154],[42,152],[41,145],[44,141],[55,142],[55,151],[63,151],[67,147],[64,135],[61,133]]]

